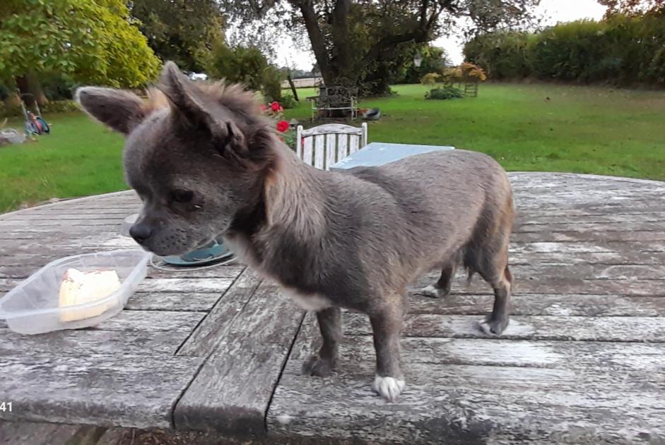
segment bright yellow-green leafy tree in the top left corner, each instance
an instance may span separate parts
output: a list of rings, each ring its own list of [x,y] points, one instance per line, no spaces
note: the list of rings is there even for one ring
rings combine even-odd
[[[124,0],[3,0],[0,23],[0,80],[21,92],[43,96],[40,77],[51,73],[136,87],[159,71]]]

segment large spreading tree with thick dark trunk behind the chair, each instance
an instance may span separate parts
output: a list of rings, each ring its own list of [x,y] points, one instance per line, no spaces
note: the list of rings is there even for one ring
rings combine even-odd
[[[358,85],[382,93],[404,47],[442,34],[455,18],[487,31],[524,23],[540,0],[220,0],[233,20],[280,22],[305,30],[326,85]],[[275,28],[271,28],[275,29]],[[409,54],[411,59],[413,54]],[[367,91],[369,90],[369,91]]]

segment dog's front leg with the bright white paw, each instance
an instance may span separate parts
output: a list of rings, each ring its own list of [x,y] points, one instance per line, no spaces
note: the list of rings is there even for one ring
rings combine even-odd
[[[387,401],[395,401],[404,389],[404,375],[399,367],[399,336],[404,304],[388,303],[370,313],[377,354],[377,374],[372,389]]]

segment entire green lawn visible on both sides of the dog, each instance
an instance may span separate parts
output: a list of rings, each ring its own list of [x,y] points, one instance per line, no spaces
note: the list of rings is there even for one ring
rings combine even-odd
[[[476,99],[425,101],[425,87],[367,99],[381,121],[369,139],[454,145],[491,154],[509,170],[575,171],[665,180],[665,92],[562,85],[481,85]],[[302,90],[302,97],[313,90]],[[551,100],[546,100],[550,97]],[[287,110],[309,118],[309,104]],[[122,139],[83,114],[47,116],[52,135],[0,148],[0,212],[51,197],[126,188]],[[13,121],[20,128],[20,121]]]

